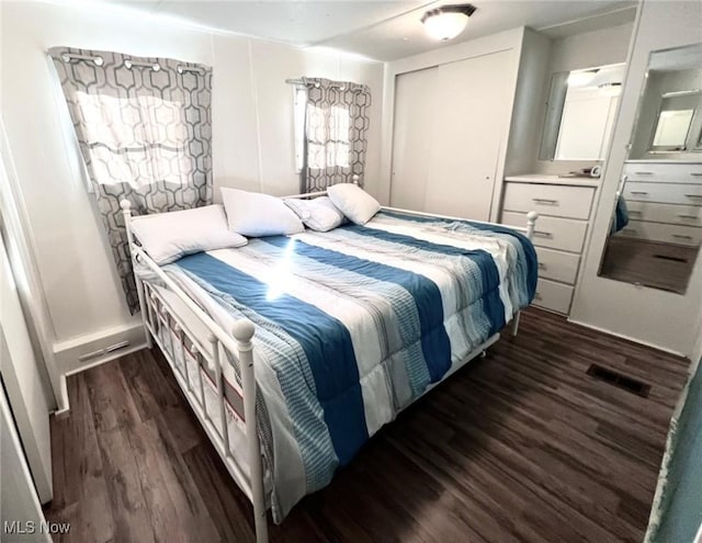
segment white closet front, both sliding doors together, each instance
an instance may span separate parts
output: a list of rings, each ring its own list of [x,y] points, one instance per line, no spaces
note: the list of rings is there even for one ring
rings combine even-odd
[[[390,205],[489,218],[512,66],[507,49],[397,75]]]

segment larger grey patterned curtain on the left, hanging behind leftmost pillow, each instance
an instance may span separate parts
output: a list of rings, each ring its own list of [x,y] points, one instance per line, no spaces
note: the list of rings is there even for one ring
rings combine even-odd
[[[134,314],[120,201],[129,200],[139,215],[212,203],[212,69],[68,47],[48,54]]]

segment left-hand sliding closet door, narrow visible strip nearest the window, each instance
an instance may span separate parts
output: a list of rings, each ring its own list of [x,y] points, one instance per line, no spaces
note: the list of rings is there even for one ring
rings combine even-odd
[[[395,79],[390,205],[422,211],[429,179],[429,155],[438,67],[400,73]]]

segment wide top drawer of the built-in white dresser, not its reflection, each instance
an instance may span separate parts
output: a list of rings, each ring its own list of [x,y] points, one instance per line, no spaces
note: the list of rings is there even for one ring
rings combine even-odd
[[[582,218],[590,216],[595,189],[554,184],[506,183],[502,208],[511,212],[539,212],[555,217]]]

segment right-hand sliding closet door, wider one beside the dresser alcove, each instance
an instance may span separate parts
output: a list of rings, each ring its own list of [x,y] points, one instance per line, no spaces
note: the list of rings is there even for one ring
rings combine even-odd
[[[488,220],[510,114],[512,55],[505,50],[439,66],[426,211]]]

